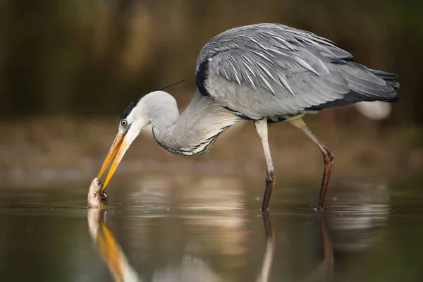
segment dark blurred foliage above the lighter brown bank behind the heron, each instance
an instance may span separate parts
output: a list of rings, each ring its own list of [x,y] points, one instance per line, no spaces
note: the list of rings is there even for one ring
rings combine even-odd
[[[0,116],[118,114],[171,82],[186,104],[214,35],[283,23],[327,37],[369,68],[398,73],[391,122],[423,123],[423,1],[0,1]],[[186,91],[185,91],[186,90]]]

